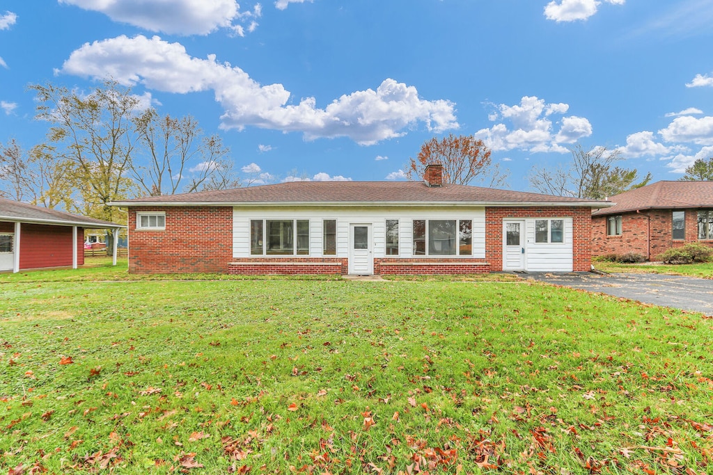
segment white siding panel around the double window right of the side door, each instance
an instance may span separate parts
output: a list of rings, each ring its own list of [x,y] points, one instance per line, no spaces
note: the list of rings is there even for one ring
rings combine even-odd
[[[525,219],[525,269],[532,272],[571,272],[573,268],[572,218],[542,216],[537,219],[564,219],[563,243],[535,243],[535,219]]]

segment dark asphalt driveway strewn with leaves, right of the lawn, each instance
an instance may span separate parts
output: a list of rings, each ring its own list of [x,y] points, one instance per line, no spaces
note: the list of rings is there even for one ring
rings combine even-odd
[[[590,272],[532,272],[523,277],[713,315],[713,280],[709,279],[655,273],[612,273],[600,276]]]

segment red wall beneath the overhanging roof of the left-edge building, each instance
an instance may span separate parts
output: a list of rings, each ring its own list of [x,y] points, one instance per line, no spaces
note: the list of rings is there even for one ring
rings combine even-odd
[[[14,231],[14,226],[12,231]],[[77,228],[77,265],[84,263],[84,230]],[[20,268],[72,265],[72,227],[20,224]]]

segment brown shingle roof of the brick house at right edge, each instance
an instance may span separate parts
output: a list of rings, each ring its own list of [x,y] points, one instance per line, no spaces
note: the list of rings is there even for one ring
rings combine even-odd
[[[619,214],[637,209],[713,208],[713,182],[656,182],[614,197],[616,204],[593,216]]]

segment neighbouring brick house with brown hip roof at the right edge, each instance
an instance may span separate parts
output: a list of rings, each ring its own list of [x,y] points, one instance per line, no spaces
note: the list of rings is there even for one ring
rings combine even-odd
[[[713,246],[713,182],[656,182],[609,197],[592,214],[592,254],[642,254],[653,261],[672,247]]]

